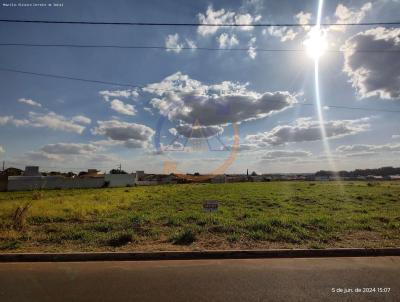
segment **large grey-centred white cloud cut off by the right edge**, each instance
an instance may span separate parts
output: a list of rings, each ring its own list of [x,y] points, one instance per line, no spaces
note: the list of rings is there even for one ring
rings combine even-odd
[[[377,27],[349,38],[343,46],[344,72],[362,98],[400,97],[400,60],[391,51],[400,51],[400,28]],[[358,50],[378,50],[362,53]],[[386,53],[385,53],[386,51]]]

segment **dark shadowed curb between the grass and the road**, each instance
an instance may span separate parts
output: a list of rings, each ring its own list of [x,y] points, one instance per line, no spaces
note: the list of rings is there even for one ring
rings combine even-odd
[[[109,253],[5,253],[0,262],[154,261],[201,259],[320,258],[400,256],[400,248],[216,250]]]

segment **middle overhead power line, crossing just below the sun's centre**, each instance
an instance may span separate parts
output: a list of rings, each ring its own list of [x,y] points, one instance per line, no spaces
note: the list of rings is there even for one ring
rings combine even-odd
[[[104,44],[35,44],[35,43],[0,43],[1,46],[17,47],[65,47],[65,48],[111,48],[111,49],[155,49],[155,50],[204,50],[204,51],[249,51],[256,52],[305,52],[305,49],[280,49],[280,48],[217,48],[217,47],[166,47],[156,45],[104,45]],[[326,52],[343,53],[346,49],[327,49]],[[355,53],[400,53],[400,49],[355,49]]]

